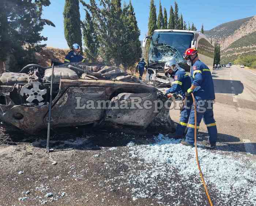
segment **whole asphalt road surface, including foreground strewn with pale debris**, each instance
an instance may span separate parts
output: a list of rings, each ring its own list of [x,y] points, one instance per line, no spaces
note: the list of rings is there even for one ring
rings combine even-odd
[[[208,135],[201,123],[198,153],[214,206],[256,206],[254,74],[237,66],[212,74],[217,149],[201,145]],[[179,121],[179,110],[170,114]],[[56,165],[45,153],[45,131],[0,135],[0,206],[208,206],[195,148],[159,133],[55,130]]]

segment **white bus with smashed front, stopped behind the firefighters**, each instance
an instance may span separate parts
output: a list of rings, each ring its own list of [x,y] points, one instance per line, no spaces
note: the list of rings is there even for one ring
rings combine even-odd
[[[187,48],[192,47],[198,50],[198,56],[212,71],[214,46],[204,34],[198,31],[187,30],[155,30],[152,37],[147,36],[143,40],[143,47],[148,39],[151,39],[148,53],[148,71],[146,80],[162,86],[170,84],[163,72],[163,66],[170,58],[175,58],[177,63],[186,71],[191,67],[183,59]]]

